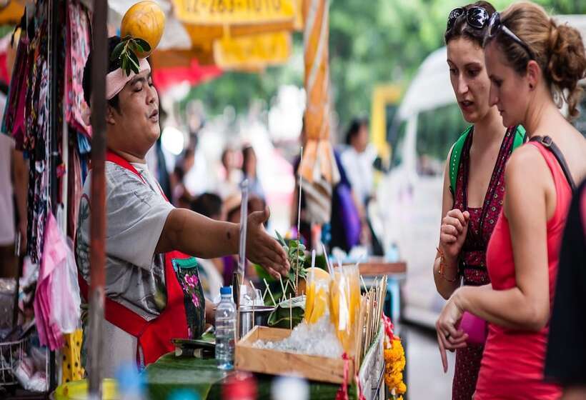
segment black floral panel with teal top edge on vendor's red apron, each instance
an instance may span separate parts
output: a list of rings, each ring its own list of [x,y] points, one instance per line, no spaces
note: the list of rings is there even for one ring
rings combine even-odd
[[[205,304],[202,281],[199,279],[197,260],[173,259],[173,269],[183,289],[187,331],[189,339],[197,339],[204,333]]]

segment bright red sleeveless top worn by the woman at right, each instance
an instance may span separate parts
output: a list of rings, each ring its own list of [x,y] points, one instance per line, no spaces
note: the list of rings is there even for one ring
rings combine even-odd
[[[560,242],[572,190],[555,156],[540,143],[530,142],[528,145],[539,149],[547,166],[550,167],[555,183],[555,212],[547,221],[547,264],[551,302],[554,298]],[[507,290],[517,285],[509,222],[502,213],[488,245],[487,267],[493,289]],[[475,400],[559,399],[562,394],[560,386],[546,383],[543,376],[549,329],[549,324],[538,332],[506,329],[490,324]]]

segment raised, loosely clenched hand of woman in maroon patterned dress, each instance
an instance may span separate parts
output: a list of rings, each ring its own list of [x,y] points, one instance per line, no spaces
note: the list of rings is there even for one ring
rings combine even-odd
[[[447,211],[446,216],[442,219],[440,229],[440,248],[444,252],[446,261],[449,264],[455,264],[468,232],[468,221],[470,213],[453,209]]]

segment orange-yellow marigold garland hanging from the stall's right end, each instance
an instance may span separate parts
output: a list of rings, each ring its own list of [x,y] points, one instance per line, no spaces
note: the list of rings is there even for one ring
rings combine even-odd
[[[405,351],[401,339],[393,334],[393,324],[388,316],[384,319],[384,383],[391,392],[392,399],[403,400],[407,385],[403,381]]]

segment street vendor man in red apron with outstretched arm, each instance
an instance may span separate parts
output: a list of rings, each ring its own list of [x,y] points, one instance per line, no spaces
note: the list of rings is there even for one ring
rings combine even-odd
[[[106,320],[99,333],[104,376],[114,376],[122,363],[146,366],[157,361],[173,350],[174,338],[199,337],[204,309],[209,314],[210,307],[193,257],[215,258],[239,251],[239,224],[175,208],[147,168],[146,152],[160,134],[159,97],[146,59],[139,61],[138,74],[127,74],[120,59],[111,59],[120,41],[118,36],[109,38],[106,76]],[[92,54],[83,79],[89,107],[91,58]],[[76,234],[79,285],[85,301],[90,276],[90,189],[91,171],[84,183]],[[278,276],[287,273],[289,263],[282,247],[264,231],[268,218],[268,209],[249,215],[247,258]],[[88,333],[94,334],[84,331],[85,339]]]

